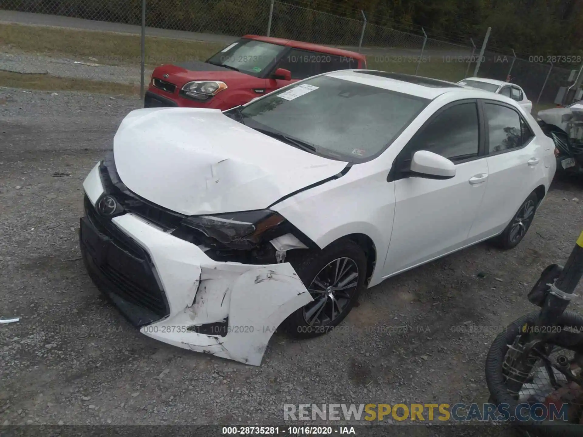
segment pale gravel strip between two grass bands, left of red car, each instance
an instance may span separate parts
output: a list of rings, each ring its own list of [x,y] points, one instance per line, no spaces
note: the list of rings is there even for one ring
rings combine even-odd
[[[79,64],[75,64],[75,62],[79,62]],[[104,80],[125,84],[140,83],[139,66],[101,65],[93,61],[54,58],[36,54],[0,53],[0,70],[15,73],[50,74],[69,79]],[[146,69],[146,80],[150,75],[152,75],[152,69]]]

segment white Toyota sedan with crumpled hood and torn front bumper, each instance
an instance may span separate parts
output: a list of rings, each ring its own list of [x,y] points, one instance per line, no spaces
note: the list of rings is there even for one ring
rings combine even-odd
[[[154,339],[260,365],[359,292],[524,237],[554,144],[507,98],[378,71],[310,77],[229,111],[130,112],[83,182],[97,286]]]

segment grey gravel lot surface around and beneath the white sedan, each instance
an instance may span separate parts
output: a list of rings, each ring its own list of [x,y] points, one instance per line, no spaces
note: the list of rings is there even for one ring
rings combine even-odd
[[[0,316],[22,317],[0,326],[0,424],[269,424],[284,403],[485,402],[497,327],[534,309],[531,284],[583,228],[582,185],[557,182],[514,250],[480,244],[389,279],[342,329],[276,333],[261,367],[181,350],[129,326],[79,258],[83,178],[139,105],[0,89]]]

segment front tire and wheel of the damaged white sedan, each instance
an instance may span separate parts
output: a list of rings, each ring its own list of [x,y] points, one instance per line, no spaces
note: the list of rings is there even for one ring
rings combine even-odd
[[[314,301],[291,313],[285,329],[298,339],[318,337],[339,325],[356,303],[366,280],[366,255],[350,239],[293,255],[290,263]]]

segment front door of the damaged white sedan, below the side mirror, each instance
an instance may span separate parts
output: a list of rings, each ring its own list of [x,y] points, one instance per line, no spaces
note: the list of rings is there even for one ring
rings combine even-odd
[[[488,184],[483,128],[477,101],[463,100],[437,111],[409,141],[391,171],[395,217],[384,266],[390,276],[466,245]],[[413,153],[429,150],[449,158],[451,179],[406,175]]]

